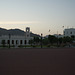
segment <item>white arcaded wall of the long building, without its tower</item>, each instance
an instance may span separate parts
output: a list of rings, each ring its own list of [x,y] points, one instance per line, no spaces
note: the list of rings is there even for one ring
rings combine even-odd
[[[32,37],[25,38],[25,36],[11,36],[10,37],[10,45],[16,45],[16,40],[18,41],[17,45],[25,45],[25,40],[27,41],[26,45],[29,45],[30,39],[32,39]],[[7,35],[0,36],[0,45],[1,45],[2,40],[5,40],[6,45],[7,45],[7,41],[9,40],[9,36],[7,36]],[[14,40],[14,44],[12,44],[12,40]],[[20,44],[21,40],[22,40],[22,44]]]

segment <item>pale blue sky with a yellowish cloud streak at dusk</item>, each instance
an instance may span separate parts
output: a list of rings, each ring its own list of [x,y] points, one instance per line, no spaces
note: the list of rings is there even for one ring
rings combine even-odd
[[[63,34],[65,28],[75,28],[75,0],[0,0],[0,27]]]

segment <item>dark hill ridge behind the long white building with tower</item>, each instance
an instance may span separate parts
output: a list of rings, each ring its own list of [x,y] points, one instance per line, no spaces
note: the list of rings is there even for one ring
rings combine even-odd
[[[23,36],[25,35],[26,32],[24,32],[23,30],[20,29],[4,29],[4,28],[0,28],[0,36],[1,35],[19,35],[19,36]],[[32,32],[30,32],[30,36],[31,37],[40,37],[40,35],[34,34]]]

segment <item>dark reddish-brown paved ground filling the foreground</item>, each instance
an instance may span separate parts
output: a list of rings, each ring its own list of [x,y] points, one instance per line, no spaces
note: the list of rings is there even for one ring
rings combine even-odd
[[[75,48],[0,49],[0,75],[75,75]]]

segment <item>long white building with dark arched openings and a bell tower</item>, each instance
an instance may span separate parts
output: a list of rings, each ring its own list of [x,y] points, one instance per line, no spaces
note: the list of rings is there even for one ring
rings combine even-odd
[[[0,45],[2,45],[2,40],[5,40],[6,45],[19,46],[19,45],[29,45],[29,40],[33,39],[30,37],[30,28],[26,28],[26,34],[24,36],[17,35],[2,35],[0,36]]]

